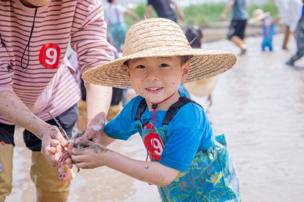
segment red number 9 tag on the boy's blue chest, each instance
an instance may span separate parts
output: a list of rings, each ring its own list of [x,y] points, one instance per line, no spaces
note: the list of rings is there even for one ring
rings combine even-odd
[[[150,133],[145,136],[143,143],[152,158],[159,161],[165,147],[162,138],[156,133]]]

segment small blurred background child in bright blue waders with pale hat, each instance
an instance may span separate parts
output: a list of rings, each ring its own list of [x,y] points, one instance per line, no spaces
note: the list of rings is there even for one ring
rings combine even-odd
[[[253,11],[253,18],[248,21],[248,24],[255,24],[262,22],[263,29],[263,40],[262,40],[262,51],[268,47],[269,51],[273,51],[273,35],[275,34],[275,21],[270,17],[270,12],[264,12],[261,9],[256,9]]]

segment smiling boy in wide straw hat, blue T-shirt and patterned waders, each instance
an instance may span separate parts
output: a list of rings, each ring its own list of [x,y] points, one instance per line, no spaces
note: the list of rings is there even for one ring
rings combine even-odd
[[[133,87],[139,95],[105,125],[102,144],[80,139],[86,147],[69,151],[76,167],[107,166],[157,185],[162,201],[241,201],[223,134],[215,136],[203,108],[178,91],[181,82],[229,70],[236,56],[190,44],[175,22],[143,20],[129,29],[121,59],[83,74],[86,82]],[[137,132],[147,150],[146,161],[106,147]]]

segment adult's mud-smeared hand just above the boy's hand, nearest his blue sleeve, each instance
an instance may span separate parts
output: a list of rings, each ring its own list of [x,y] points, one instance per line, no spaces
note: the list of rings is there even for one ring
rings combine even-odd
[[[91,140],[95,143],[101,143],[101,135],[104,128],[106,115],[104,112],[97,114],[90,122],[85,134],[80,137],[83,140]]]

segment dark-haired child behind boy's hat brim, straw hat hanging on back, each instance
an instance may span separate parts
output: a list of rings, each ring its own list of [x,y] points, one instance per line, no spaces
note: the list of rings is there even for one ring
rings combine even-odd
[[[192,41],[191,47],[192,48],[201,48],[202,43],[204,41],[203,32],[201,28],[197,25],[189,25],[185,31],[185,36],[188,41]],[[196,96],[208,96],[209,106],[212,105],[212,96],[211,92],[215,88],[217,83],[217,76],[213,76],[210,78],[205,78],[201,80],[197,80],[194,82],[188,82],[184,84],[185,89],[194,94]],[[208,112],[208,109],[206,109]]]

